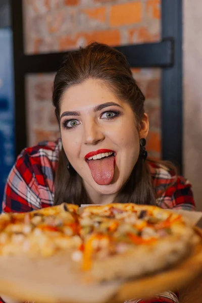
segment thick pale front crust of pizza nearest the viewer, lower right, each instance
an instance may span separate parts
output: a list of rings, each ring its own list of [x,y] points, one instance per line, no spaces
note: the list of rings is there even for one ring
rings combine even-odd
[[[86,275],[96,281],[139,278],[181,262],[191,254],[197,241],[193,231],[185,228],[181,235],[171,235],[152,245],[139,245],[105,260],[93,260]]]

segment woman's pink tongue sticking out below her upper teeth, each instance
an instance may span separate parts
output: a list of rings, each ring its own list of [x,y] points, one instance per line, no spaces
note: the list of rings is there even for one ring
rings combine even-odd
[[[99,185],[108,185],[114,177],[115,158],[105,157],[97,160],[89,160],[88,165],[94,181]]]

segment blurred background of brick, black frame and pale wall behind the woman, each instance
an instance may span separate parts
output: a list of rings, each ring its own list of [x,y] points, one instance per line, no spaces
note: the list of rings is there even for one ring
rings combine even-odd
[[[142,66],[132,66],[134,78],[146,97],[145,111],[150,121],[147,150],[150,156],[172,160],[179,166],[193,184],[197,209],[202,211],[202,2],[168,3],[169,0],[0,0],[0,199],[20,150],[60,136],[52,106],[55,68],[50,60],[59,57],[48,54],[98,41],[112,46],[142,45],[123,51],[139,49],[135,54],[141,57],[140,61],[143,56],[145,62],[150,60]],[[172,42],[173,48],[168,48],[170,63],[164,62],[167,59],[164,60],[161,42],[165,38]],[[150,49],[161,50],[158,54],[162,60],[159,58],[157,64],[152,60],[157,55]],[[129,53],[131,59],[133,52]],[[36,68],[40,63],[45,66],[44,71]]]

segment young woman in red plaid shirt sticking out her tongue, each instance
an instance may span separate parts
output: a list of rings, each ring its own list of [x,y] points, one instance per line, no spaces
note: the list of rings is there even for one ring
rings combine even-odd
[[[22,151],[8,177],[4,212],[64,201],[194,209],[189,182],[146,159],[144,96],[121,53],[99,43],[69,52],[55,77],[53,104],[61,139]],[[158,301],[178,298],[167,292],[149,300]]]

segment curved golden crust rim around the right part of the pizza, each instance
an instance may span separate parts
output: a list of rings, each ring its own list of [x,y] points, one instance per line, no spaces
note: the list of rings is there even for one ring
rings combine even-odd
[[[191,254],[199,238],[192,227],[179,214],[156,206],[113,204],[103,206],[88,206],[81,216],[85,219],[91,215],[107,214],[111,207],[122,211],[148,210],[154,217],[166,220],[170,218],[172,234],[159,238],[152,244],[134,245],[121,254],[97,258],[94,255],[91,267],[86,275],[88,279],[107,281],[117,278],[137,278],[150,273],[158,272],[175,265]],[[102,217],[103,218],[103,217]]]

